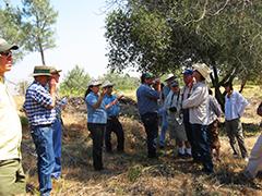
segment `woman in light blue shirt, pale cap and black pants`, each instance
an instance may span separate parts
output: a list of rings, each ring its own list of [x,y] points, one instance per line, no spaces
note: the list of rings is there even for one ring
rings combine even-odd
[[[106,89],[99,94],[98,81],[91,81],[85,93],[85,103],[87,107],[87,128],[93,140],[93,166],[96,171],[103,170],[103,140],[106,131],[107,113],[103,102]]]

